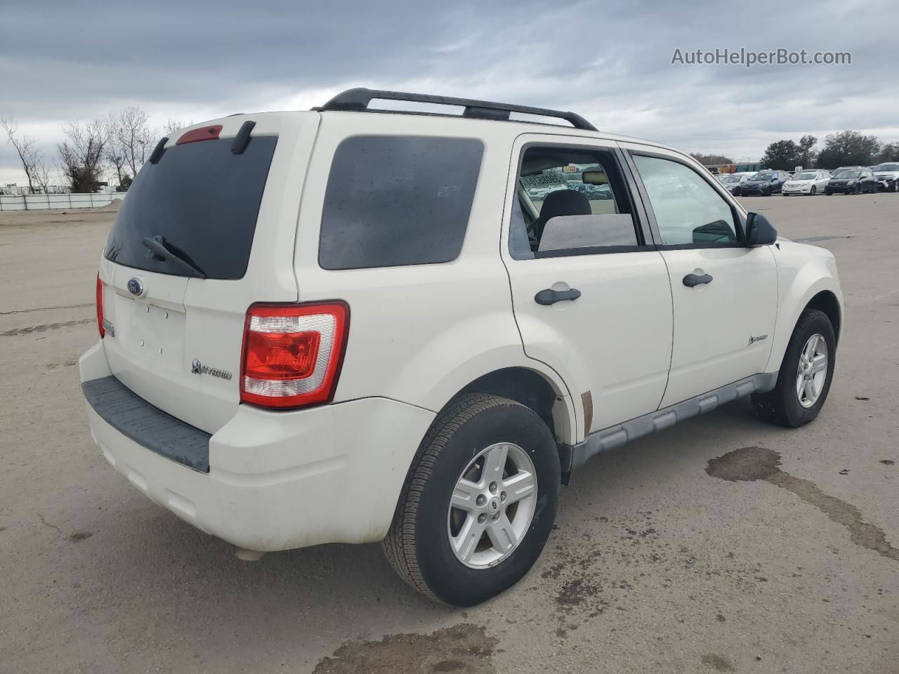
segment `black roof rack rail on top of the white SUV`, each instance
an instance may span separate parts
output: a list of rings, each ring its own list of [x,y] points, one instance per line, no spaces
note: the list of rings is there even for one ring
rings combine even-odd
[[[409,101],[420,103],[436,103],[438,105],[458,105],[463,106],[465,110],[462,117],[475,117],[480,120],[503,120],[508,121],[511,112],[521,112],[529,115],[539,115],[541,117],[556,117],[565,120],[571,124],[574,129],[586,129],[595,131],[589,121],[584,120],[581,115],[576,112],[563,112],[557,110],[547,110],[546,108],[532,108],[530,105],[512,105],[510,103],[496,103],[490,101],[475,101],[470,98],[454,98],[452,96],[433,96],[427,93],[405,93],[390,92],[381,89],[366,89],[358,87],[355,89],[347,89],[345,92],[338,93],[325,105],[317,106],[312,110],[328,111],[371,111],[371,112],[402,112],[402,111],[384,111],[369,108],[371,99],[382,99],[387,101]]]

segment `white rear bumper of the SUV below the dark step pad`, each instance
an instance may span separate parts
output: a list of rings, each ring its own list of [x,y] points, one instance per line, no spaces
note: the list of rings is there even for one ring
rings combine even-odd
[[[102,342],[80,367],[83,381],[111,375]],[[151,451],[90,404],[88,417],[103,456],[151,501],[229,543],[273,551],[383,538],[434,414],[387,398],[294,412],[239,405],[209,438],[208,473]]]

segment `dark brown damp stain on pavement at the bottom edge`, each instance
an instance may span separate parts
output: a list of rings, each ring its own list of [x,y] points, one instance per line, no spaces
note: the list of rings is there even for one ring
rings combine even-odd
[[[313,674],[494,674],[497,640],[480,625],[432,634],[388,634],[379,642],[345,642]]]

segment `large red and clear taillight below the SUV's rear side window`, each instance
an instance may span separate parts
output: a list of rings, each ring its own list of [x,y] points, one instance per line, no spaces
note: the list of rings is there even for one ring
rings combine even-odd
[[[240,399],[301,407],[334,397],[350,309],[343,302],[253,305],[246,312]]]

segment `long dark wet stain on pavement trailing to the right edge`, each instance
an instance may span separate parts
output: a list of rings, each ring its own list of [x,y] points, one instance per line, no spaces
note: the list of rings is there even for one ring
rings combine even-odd
[[[723,457],[708,460],[706,473],[729,482],[762,480],[795,493],[800,499],[821,510],[828,518],[847,528],[855,545],[899,562],[899,549],[890,545],[882,529],[861,518],[861,511],[846,501],[822,492],[808,480],[794,477],[780,469],[780,455],[773,449],[744,447]]]

